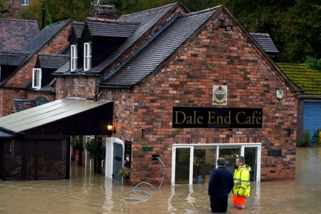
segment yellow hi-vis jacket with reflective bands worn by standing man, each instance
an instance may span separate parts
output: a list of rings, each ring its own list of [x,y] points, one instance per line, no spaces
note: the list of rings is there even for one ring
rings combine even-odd
[[[250,171],[251,167],[246,164],[235,169],[233,187],[235,195],[250,196]]]

